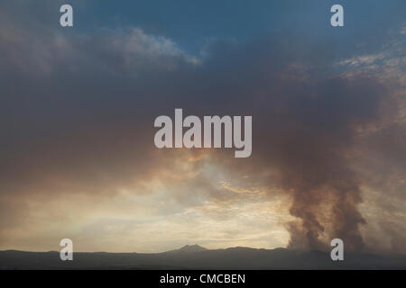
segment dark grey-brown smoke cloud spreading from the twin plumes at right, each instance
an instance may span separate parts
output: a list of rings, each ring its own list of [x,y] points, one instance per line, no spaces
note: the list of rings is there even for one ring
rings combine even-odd
[[[398,111],[381,109],[392,100],[376,76],[337,76],[344,56],[334,42],[272,34],[247,43],[218,40],[194,57],[140,29],[73,34],[15,26],[11,17],[0,28],[0,201],[14,210],[2,210],[8,220],[1,231],[25,220],[18,197],[110,195],[171,169],[176,151],[154,148],[152,121],[183,108],[200,116],[253,115],[253,156],[214,158],[235,171],[278,171],[265,182],[291,194],[291,215],[300,219],[287,227],[291,247],[324,248],[331,238],[364,247],[361,187],[380,172],[358,173],[353,155],[372,143],[374,155],[389,163],[386,156],[405,147],[404,123],[390,135],[358,139],[360,130]],[[399,174],[406,170],[401,159],[390,165]],[[216,193],[210,179],[192,184]]]

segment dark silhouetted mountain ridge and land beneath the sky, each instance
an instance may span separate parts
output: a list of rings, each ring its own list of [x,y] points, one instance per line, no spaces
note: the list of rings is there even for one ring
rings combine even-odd
[[[344,261],[332,261],[322,251],[195,244],[161,253],[74,252],[73,261],[61,261],[57,251],[5,250],[0,251],[0,269],[406,269],[406,255],[347,252]]]

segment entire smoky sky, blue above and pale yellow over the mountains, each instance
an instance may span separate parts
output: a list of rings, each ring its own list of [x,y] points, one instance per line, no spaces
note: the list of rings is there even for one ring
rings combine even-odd
[[[3,1],[0,249],[406,253],[405,9]],[[156,148],[175,108],[252,115],[252,156]]]

